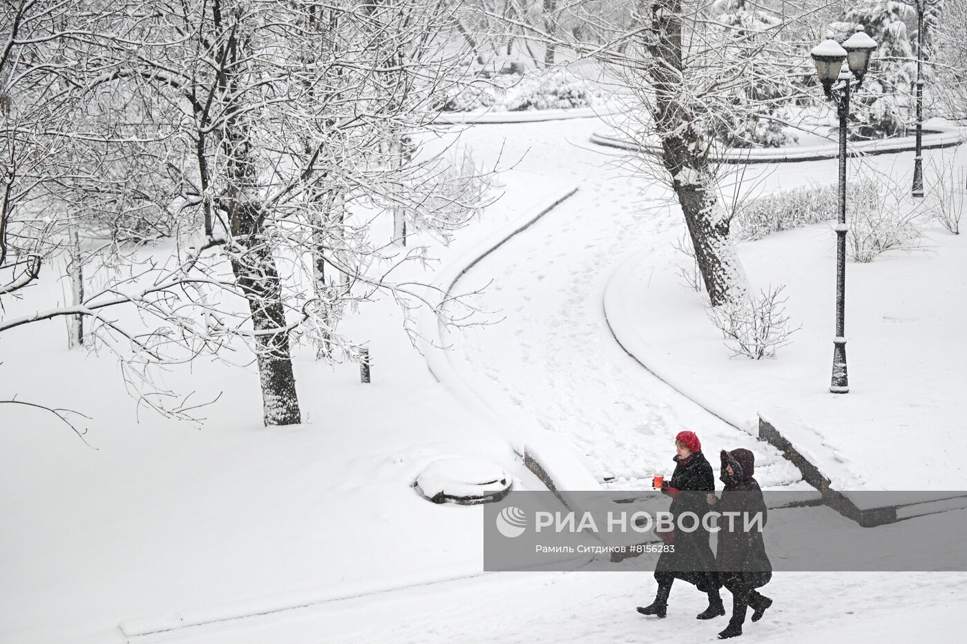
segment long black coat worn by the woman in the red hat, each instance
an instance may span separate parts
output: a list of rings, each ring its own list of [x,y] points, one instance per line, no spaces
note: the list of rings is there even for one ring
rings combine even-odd
[[[709,546],[709,533],[703,527],[701,520],[710,511],[706,502],[709,492],[716,489],[716,476],[712,471],[705,454],[695,452],[685,461],[680,462],[676,455],[675,471],[672,473],[670,487],[679,490],[672,499],[668,512],[671,512],[678,523],[678,515],[683,512],[694,512],[699,518],[698,529],[694,532],[675,531],[673,552],[662,552],[655,568],[655,576],[671,575],[689,584],[694,584],[698,590],[708,592],[719,588],[716,572],[716,558]],[[690,523],[687,523],[690,525]]]

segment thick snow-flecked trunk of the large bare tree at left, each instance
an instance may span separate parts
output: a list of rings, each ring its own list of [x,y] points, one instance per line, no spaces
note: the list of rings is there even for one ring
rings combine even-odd
[[[272,249],[258,234],[257,206],[241,204],[233,218],[233,237],[245,238],[247,246],[233,249],[232,272],[249,301],[251,323],[257,332],[255,359],[262,384],[262,410],[265,424],[299,424],[299,397],[289,353],[289,334],[285,331],[285,310]],[[282,331],[278,331],[281,329]]]

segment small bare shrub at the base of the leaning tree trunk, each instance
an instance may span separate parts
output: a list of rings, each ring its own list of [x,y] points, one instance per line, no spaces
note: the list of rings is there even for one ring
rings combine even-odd
[[[782,297],[784,285],[770,286],[759,295],[747,295],[736,302],[706,308],[709,320],[722,332],[724,344],[734,356],[751,360],[775,358],[779,347],[789,344],[792,327],[785,312],[788,298]]]

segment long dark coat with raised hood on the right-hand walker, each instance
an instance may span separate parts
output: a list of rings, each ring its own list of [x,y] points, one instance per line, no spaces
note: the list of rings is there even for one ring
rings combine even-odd
[[[725,483],[716,510],[718,518],[718,571],[725,586],[741,584],[748,588],[766,585],[773,576],[773,566],[766,555],[762,531],[755,525],[746,529],[746,517],[761,512],[761,526],[765,528],[769,511],[762,497],[762,488],[753,478],[755,456],[748,450],[721,451],[721,480]],[[733,475],[725,467],[731,465]],[[739,512],[730,525],[725,512]]]

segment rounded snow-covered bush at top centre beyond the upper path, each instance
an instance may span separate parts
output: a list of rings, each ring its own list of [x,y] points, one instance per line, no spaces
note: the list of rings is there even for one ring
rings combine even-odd
[[[454,91],[437,107],[445,112],[484,108],[498,112],[520,112],[594,107],[602,103],[601,92],[593,83],[561,71],[547,75],[502,73],[486,83]]]

